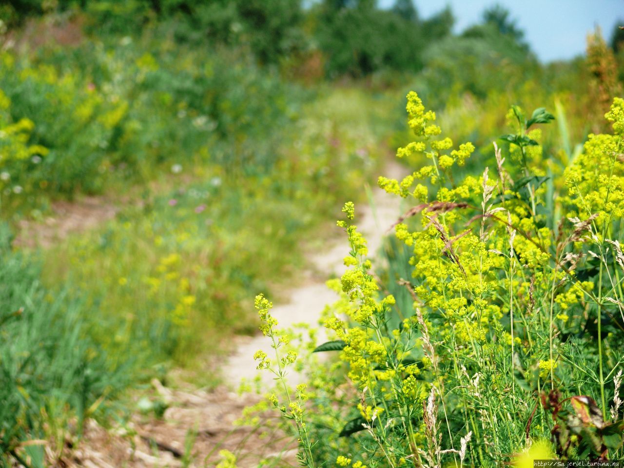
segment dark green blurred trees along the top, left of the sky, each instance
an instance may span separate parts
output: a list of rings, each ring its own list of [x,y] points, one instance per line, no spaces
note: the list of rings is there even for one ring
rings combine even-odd
[[[180,44],[242,47],[261,64],[303,61],[323,54],[329,77],[366,76],[382,69],[419,71],[430,44],[451,34],[449,9],[421,19],[410,1],[383,9],[373,0],[304,6],[301,0],[61,1],[49,10],[84,12],[87,31],[135,35],[155,28]],[[4,22],[40,15],[46,5],[29,0],[7,7]]]

